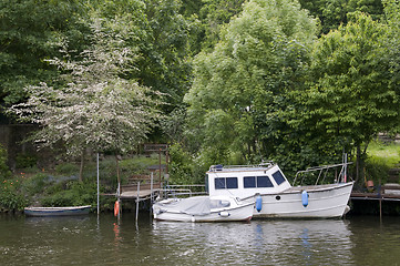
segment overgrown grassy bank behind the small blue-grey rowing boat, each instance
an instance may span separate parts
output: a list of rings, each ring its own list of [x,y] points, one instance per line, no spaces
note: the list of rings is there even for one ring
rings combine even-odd
[[[164,160],[165,162],[165,160]],[[120,161],[122,184],[133,174],[146,173],[147,167],[158,164],[158,155],[134,156]],[[21,211],[25,206],[78,206],[96,208],[96,163],[85,163],[83,182],[79,181],[78,162],[60,163],[53,168],[27,167],[13,175],[1,176],[0,212]],[[117,186],[116,162],[113,156],[100,161],[100,192],[115,193]],[[114,197],[101,197],[101,209],[113,207]]]

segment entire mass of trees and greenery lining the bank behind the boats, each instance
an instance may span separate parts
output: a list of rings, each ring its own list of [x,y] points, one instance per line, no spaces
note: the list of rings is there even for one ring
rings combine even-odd
[[[158,164],[137,163],[144,143],[168,143],[171,184],[263,160],[290,181],[345,154],[356,190],[399,183],[396,142],[375,141],[400,132],[398,0],[8,2],[3,212],[95,206],[93,154],[105,154],[101,192],[112,194]]]

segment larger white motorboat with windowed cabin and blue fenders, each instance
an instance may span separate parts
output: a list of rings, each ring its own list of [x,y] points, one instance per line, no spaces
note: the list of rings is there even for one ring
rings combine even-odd
[[[332,166],[342,166],[340,174],[346,176],[346,165]],[[274,163],[256,166],[213,165],[206,173],[206,187],[211,196],[225,195],[255,202],[254,218],[332,218],[341,217],[350,209],[348,201],[353,182],[346,182],[346,177],[338,180],[345,182],[291,186]]]

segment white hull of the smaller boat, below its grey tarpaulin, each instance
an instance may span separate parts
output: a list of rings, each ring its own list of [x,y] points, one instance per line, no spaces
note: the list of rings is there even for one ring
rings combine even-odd
[[[184,198],[183,198],[184,200]],[[182,201],[182,198],[174,200]],[[233,203],[234,200],[232,200]],[[172,202],[172,201],[170,201]],[[172,202],[174,203],[174,202]],[[167,201],[153,205],[154,219],[173,222],[235,222],[249,221],[254,213],[254,202],[232,204],[229,207],[212,208],[207,214],[191,214],[168,207]]]

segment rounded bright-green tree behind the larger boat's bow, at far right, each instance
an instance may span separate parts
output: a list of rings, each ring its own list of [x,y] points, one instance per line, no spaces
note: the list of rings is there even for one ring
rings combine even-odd
[[[368,143],[398,124],[399,90],[390,82],[386,37],[384,24],[355,13],[315,45],[308,90],[300,96],[306,109],[298,125],[319,143],[357,150],[358,167]]]

